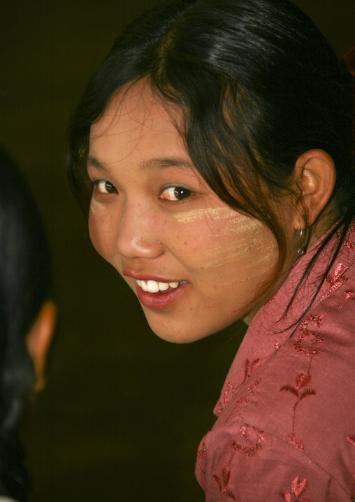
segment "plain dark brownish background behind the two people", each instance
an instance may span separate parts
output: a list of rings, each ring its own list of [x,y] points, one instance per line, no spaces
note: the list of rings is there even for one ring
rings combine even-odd
[[[198,442],[242,336],[159,340],[92,248],[64,175],[66,122],[120,29],[157,1],[2,0],[0,143],[48,227],[60,306],[48,385],[22,433],[31,502],[203,501]],[[355,0],[295,0],[338,55],[355,45]]]

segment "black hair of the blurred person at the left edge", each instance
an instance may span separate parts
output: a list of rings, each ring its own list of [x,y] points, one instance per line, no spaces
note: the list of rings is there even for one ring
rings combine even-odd
[[[27,497],[16,429],[34,385],[26,335],[52,294],[51,258],[36,203],[0,151],[0,493]]]

